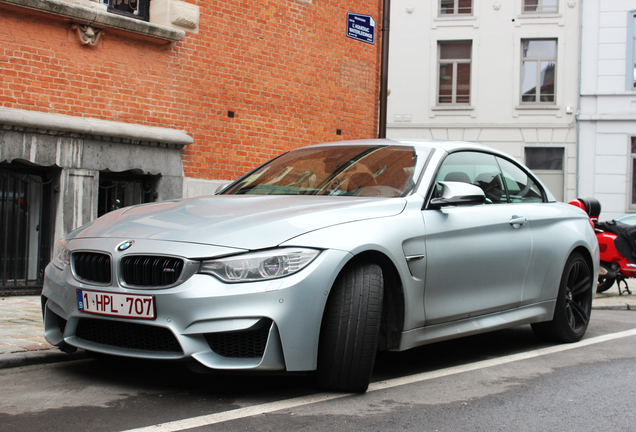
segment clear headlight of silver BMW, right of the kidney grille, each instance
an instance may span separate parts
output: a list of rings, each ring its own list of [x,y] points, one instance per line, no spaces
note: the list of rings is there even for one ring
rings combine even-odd
[[[274,249],[201,263],[200,273],[223,282],[252,282],[289,276],[305,268],[320,253],[315,249]]]

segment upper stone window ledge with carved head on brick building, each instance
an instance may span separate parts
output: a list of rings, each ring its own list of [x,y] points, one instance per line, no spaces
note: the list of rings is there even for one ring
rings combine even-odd
[[[74,23],[117,29],[167,42],[178,42],[185,37],[183,30],[60,0],[0,0],[2,4],[58,15]]]

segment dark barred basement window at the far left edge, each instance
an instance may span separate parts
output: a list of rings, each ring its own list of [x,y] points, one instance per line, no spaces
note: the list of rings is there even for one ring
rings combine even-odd
[[[50,257],[51,175],[46,170],[0,165],[0,290],[42,290]]]

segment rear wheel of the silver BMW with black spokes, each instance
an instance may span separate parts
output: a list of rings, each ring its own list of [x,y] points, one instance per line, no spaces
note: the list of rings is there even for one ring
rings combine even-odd
[[[594,280],[587,261],[578,253],[570,256],[559,284],[552,321],[532,324],[534,333],[551,342],[578,342],[590,322]]]

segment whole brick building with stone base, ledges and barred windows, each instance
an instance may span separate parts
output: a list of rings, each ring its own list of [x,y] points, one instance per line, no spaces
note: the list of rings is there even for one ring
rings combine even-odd
[[[110,1],[110,3],[109,3]],[[114,208],[378,131],[382,1],[0,0],[0,290]],[[379,27],[379,26],[378,26]]]

